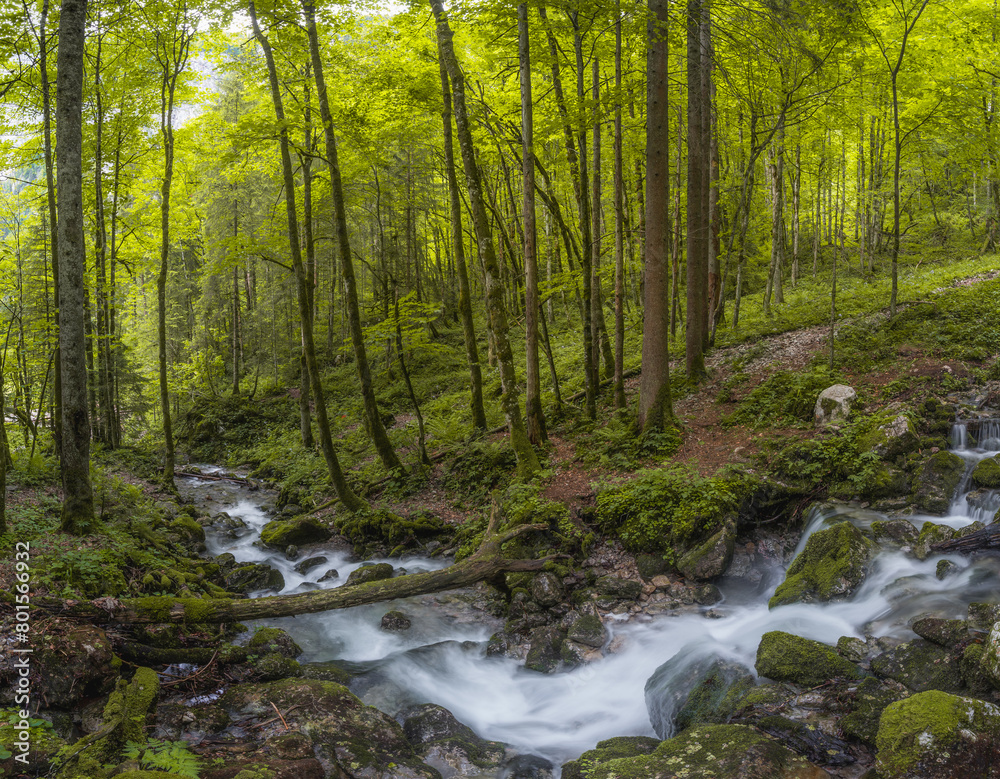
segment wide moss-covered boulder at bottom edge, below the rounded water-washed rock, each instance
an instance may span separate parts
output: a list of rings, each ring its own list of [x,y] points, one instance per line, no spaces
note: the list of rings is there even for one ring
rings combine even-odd
[[[828,774],[744,725],[700,725],[651,754],[608,760],[588,779],[820,779]]]

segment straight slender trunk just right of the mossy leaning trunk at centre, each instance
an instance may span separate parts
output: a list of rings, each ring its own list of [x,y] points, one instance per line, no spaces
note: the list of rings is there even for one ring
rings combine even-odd
[[[531,53],[528,6],[517,7],[518,60],[521,75],[521,181],[524,188],[524,329],[526,343],[525,391],[528,440],[538,446],[548,439],[542,412],[542,382],[538,365],[538,252],[535,225],[535,150],[531,104]]]

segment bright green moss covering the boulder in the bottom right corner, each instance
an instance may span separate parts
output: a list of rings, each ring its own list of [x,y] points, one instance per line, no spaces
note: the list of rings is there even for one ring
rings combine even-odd
[[[969,732],[972,741],[1000,736],[1000,712],[973,698],[938,690],[890,704],[879,720],[876,767],[883,779],[903,779],[917,766],[946,764]],[[930,774],[928,774],[930,775]],[[943,772],[935,775],[944,775]]]

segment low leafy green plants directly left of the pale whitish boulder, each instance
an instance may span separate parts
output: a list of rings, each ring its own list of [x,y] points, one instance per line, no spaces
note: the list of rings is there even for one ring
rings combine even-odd
[[[826,366],[801,371],[778,371],[768,376],[722,420],[725,427],[791,427],[811,422],[816,398],[838,375]]]

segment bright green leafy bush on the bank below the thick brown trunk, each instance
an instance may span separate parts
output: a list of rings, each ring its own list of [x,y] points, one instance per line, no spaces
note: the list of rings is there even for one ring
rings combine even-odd
[[[633,551],[669,552],[717,530],[743,487],[740,477],[703,478],[680,465],[640,471],[630,481],[598,485],[598,527]]]

